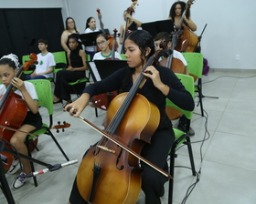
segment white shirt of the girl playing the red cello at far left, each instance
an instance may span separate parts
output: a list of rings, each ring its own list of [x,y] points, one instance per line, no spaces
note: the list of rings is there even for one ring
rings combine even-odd
[[[30,95],[30,97],[32,97],[33,100],[38,100],[37,91],[36,91],[36,88],[34,87],[34,85],[31,82],[28,82],[28,81],[24,81],[24,85],[25,85],[25,87],[27,89],[27,92]],[[7,87],[5,87],[5,85],[0,85],[0,96],[5,94],[6,89],[7,89]],[[21,96],[23,100],[25,100],[25,98],[22,96],[19,89],[15,88],[14,92],[17,95]],[[28,107],[27,107],[27,110],[29,110]]]

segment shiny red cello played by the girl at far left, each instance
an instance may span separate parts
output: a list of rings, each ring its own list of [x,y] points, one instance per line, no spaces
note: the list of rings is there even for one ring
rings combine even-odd
[[[30,54],[29,58],[31,60],[18,69],[16,77],[19,77],[22,71],[27,71],[30,65],[36,63],[37,54]],[[0,101],[0,125],[1,127],[6,127],[0,128],[0,137],[8,142],[14,135],[14,131],[8,128],[20,128],[27,116],[27,103],[21,96],[13,92],[13,87],[12,84],[7,87],[5,95],[1,97]],[[11,148],[7,143],[5,143],[5,147]],[[11,167],[14,158],[6,152],[2,152],[1,158],[5,158],[3,164],[6,172]]]

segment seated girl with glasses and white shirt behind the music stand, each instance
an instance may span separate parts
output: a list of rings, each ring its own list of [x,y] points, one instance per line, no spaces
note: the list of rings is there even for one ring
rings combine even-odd
[[[97,46],[101,49],[101,52],[96,53],[93,56],[93,59],[107,59],[112,58],[112,50],[110,49],[110,40],[109,37],[105,34],[99,34],[96,38]],[[114,58],[115,59],[122,59],[118,52],[114,52]],[[93,102],[93,98],[91,97],[89,105],[91,107],[96,107],[96,105]]]

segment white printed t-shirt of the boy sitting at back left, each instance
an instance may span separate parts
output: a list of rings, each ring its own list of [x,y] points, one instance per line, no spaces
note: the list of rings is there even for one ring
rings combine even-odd
[[[46,55],[42,55],[42,53],[37,54],[37,66],[36,66],[36,73],[43,73],[48,70],[51,66],[56,66],[54,56],[51,53],[47,53]],[[49,73],[47,75],[43,75],[48,77],[53,77],[53,73]]]

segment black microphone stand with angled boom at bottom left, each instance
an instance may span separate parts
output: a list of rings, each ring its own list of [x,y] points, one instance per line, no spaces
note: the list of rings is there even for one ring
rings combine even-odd
[[[40,161],[40,160],[37,160],[35,158],[31,158],[31,157],[28,157],[26,155],[23,155],[21,153],[16,153],[16,151],[10,149],[10,148],[5,148],[5,142],[3,141],[0,141],[0,154],[2,152],[6,152],[6,153],[9,153],[9,154],[12,154],[14,156],[16,156],[16,158],[25,158],[29,161],[32,161],[32,162],[35,162],[37,164],[40,164],[42,166],[45,166],[48,168],[49,171],[53,171],[53,170],[57,170],[61,167],[64,167],[63,165],[51,165],[51,164],[48,164],[48,163],[45,163],[43,161]],[[2,162],[2,159],[0,160],[1,164],[0,164],[0,184],[1,184],[1,189],[5,195],[5,198],[8,202],[8,204],[16,204],[14,198],[13,198],[13,195],[11,193],[11,190],[9,188],[9,185],[8,185],[8,182],[5,178],[5,168],[4,168],[4,165],[3,165],[3,162]],[[76,161],[77,162],[77,161]],[[73,163],[76,163],[75,161],[70,161],[69,164],[73,164]],[[67,166],[68,164],[65,164],[65,166]],[[34,174],[33,176],[36,176],[37,174]]]

